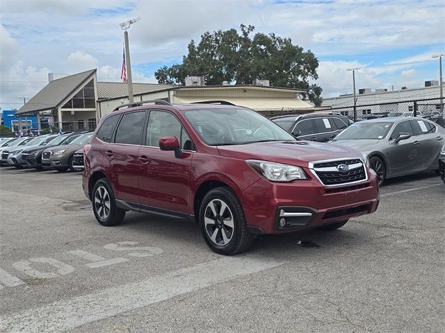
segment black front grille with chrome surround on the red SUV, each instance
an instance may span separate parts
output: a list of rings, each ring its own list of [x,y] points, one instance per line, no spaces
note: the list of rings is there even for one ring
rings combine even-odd
[[[340,164],[348,166],[347,171],[339,171]],[[366,171],[362,160],[349,159],[327,162],[314,162],[314,172],[323,185],[344,185],[366,180]]]

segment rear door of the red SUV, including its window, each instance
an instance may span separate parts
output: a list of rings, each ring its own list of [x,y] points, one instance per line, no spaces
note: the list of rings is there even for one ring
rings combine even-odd
[[[139,203],[138,151],[146,114],[147,111],[122,114],[114,143],[106,145],[103,151],[104,164],[108,164],[107,176],[111,177],[116,198],[131,203]]]

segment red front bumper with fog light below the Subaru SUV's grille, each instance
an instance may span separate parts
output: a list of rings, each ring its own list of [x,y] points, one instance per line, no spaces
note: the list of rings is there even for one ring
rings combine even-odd
[[[266,234],[317,228],[371,214],[378,203],[379,190],[373,172],[364,182],[334,188],[315,179],[278,183],[261,178],[241,195],[249,229]],[[284,225],[280,225],[282,219]]]

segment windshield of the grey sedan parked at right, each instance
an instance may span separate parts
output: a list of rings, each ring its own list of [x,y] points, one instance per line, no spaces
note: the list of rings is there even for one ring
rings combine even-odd
[[[392,124],[393,123],[389,121],[353,123],[332,141],[348,139],[383,139],[388,134]]]

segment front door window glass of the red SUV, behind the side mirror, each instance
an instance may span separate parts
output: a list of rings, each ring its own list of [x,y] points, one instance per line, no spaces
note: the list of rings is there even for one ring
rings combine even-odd
[[[192,150],[193,148],[190,137],[173,114],[165,111],[150,111],[145,142],[147,146],[159,147],[159,139],[162,137],[177,137],[182,149]]]

